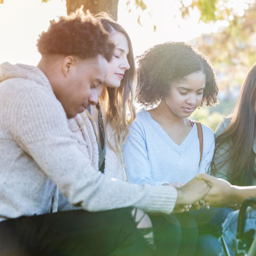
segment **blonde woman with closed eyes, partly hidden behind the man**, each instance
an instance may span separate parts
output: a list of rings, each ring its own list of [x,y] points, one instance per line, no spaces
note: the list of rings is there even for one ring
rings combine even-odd
[[[123,164],[123,142],[135,118],[133,80],[135,64],[130,37],[124,28],[107,14],[98,15],[115,43],[114,57],[99,89],[99,104],[91,106],[69,121],[74,137],[95,170],[111,178],[126,180]],[[103,90],[103,91],[102,91]]]

